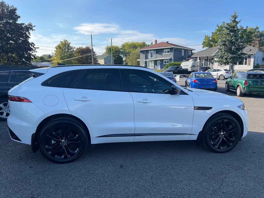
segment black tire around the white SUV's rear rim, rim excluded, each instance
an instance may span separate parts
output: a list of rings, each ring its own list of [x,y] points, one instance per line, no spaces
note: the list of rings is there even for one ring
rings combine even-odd
[[[46,151],[45,144],[44,144],[44,136],[46,135],[46,133],[52,129],[53,127],[57,126],[57,125],[69,125],[71,127],[73,127],[74,129],[76,129],[79,133],[79,135],[81,136],[81,147],[79,148],[78,152],[73,156],[70,157],[68,159],[56,159],[54,157],[52,157],[50,154],[48,154],[48,152]],[[77,122],[68,119],[58,119],[58,120],[54,120],[54,121],[50,121],[48,124],[46,124],[46,126],[41,130],[40,134],[39,134],[39,150],[41,152],[41,154],[48,159],[51,162],[55,162],[55,163],[69,163],[72,162],[74,160],[76,160],[77,158],[79,158],[84,150],[87,147],[87,134],[86,131],[84,130],[83,126],[78,124]]]

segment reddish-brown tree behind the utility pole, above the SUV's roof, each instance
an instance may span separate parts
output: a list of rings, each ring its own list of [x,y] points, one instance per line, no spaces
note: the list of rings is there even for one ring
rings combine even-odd
[[[84,64],[92,64],[92,49],[89,47],[79,47],[76,48],[74,52],[74,57],[81,56],[79,58],[74,59],[74,64],[84,65]],[[93,51],[93,63],[98,63],[96,52]]]

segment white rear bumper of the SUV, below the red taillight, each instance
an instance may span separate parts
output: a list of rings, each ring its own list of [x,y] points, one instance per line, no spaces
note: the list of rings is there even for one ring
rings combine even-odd
[[[48,116],[31,102],[8,102],[10,116],[7,118],[7,125],[10,138],[16,142],[31,144],[32,134],[36,132],[40,121]]]

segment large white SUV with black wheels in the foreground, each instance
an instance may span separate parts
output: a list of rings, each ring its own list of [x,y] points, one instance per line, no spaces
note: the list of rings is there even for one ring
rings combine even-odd
[[[248,131],[238,98],[182,88],[148,68],[74,65],[31,72],[8,92],[8,131],[52,162],[71,162],[87,144],[111,142],[196,140],[223,153]]]

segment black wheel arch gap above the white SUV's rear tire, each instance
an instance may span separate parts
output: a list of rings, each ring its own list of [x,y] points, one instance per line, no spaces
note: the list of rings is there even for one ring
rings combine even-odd
[[[44,120],[42,120],[39,125],[37,126],[37,129],[34,133],[34,137],[32,138],[31,140],[31,146],[32,144],[35,145],[37,142],[38,142],[38,139],[39,139],[39,134],[40,134],[40,131],[41,129],[43,129],[43,127],[51,120],[55,119],[55,118],[58,118],[58,117],[70,117],[70,118],[73,118],[75,120],[77,120],[78,122],[80,122],[86,129],[87,131],[87,135],[88,135],[88,138],[89,138],[89,141],[91,141],[91,136],[90,136],[90,132],[89,132],[89,129],[88,127],[86,126],[86,124],[81,120],[79,119],[78,117],[76,116],[73,116],[71,114],[55,114],[55,115],[51,115],[49,117],[46,117]],[[33,149],[32,149],[33,150]],[[35,151],[36,152],[36,151]]]

